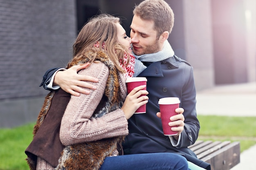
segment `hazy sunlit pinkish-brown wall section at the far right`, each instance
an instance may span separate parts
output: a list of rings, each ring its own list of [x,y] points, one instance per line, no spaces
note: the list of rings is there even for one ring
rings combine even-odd
[[[211,9],[216,84],[255,81],[255,1],[212,0]]]

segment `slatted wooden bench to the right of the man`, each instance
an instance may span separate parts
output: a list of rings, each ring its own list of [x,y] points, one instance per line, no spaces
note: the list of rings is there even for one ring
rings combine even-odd
[[[189,146],[198,159],[211,164],[211,170],[229,170],[240,163],[240,142],[196,141]]]

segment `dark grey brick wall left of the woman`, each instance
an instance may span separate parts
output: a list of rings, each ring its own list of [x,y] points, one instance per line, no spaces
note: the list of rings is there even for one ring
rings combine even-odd
[[[0,127],[37,117],[43,74],[72,57],[75,8],[75,0],[0,0]]]

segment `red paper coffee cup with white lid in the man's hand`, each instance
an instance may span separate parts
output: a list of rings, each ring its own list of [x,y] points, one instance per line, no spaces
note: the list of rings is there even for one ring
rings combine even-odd
[[[171,130],[172,127],[177,127],[177,126],[169,126],[168,123],[171,121],[170,117],[172,117],[173,115],[177,115],[177,113],[175,112],[175,109],[179,108],[180,106],[179,98],[164,97],[159,99],[158,104],[160,107],[164,135],[167,135],[167,136],[177,135],[178,134],[177,132]]]

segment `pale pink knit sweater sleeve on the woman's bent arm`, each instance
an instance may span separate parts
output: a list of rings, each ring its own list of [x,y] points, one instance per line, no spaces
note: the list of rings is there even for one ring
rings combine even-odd
[[[102,117],[92,118],[99,105],[109,75],[108,67],[101,63],[92,63],[90,67],[79,72],[81,75],[97,77],[99,82],[92,83],[97,90],[90,90],[90,95],[71,96],[61,121],[60,139],[68,146],[88,141],[117,137],[128,134],[128,121],[121,109],[117,109]]]

